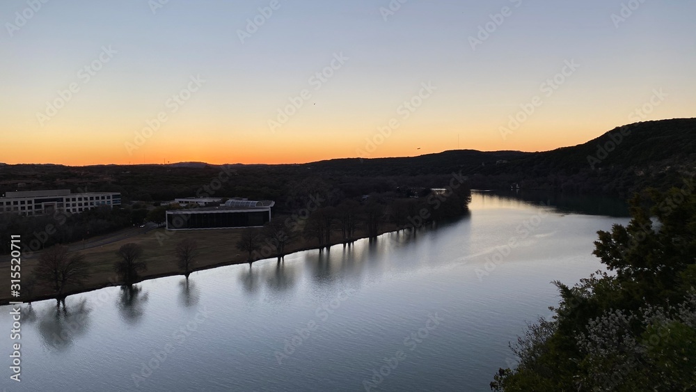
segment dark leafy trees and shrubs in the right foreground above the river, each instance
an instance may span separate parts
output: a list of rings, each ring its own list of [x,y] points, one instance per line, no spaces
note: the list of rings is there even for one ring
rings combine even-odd
[[[692,184],[690,186],[689,184]],[[553,320],[533,324],[496,391],[696,390],[696,194],[693,182],[630,201],[631,221],[599,231],[608,272],[555,282]]]

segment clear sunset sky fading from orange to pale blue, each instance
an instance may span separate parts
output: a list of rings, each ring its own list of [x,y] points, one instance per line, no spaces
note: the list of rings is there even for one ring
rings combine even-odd
[[[690,0],[0,2],[0,162],[543,151],[695,117]]]

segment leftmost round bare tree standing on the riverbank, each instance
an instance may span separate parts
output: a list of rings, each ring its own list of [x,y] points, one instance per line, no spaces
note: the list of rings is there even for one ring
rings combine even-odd
[[[90,272],[84,255],[70,256],[67,246],[56,245],[41,253],[34,275],[40,284],[53,290],[60,303],[65,299],[65,290],[80,287]]]

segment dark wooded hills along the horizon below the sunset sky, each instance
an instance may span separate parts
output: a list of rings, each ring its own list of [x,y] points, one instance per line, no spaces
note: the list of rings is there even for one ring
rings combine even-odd
[[[441,186],[442,178],[460,172],[473,188],[520,185],[523,189],[627,196],[647,186],[679,185],[681,178],[696,172],[696,118],[624,125],[587,143],[546,152],[450,150],[418,157],[279,165],[7,165],[0,166],[0,193],[70,188],[120,191],[126,199],[164,201],[200,193],[226,172],[234,172],[235,180],[223,184],[217,194],[272,200],[301,193],[301,187],[339,187],[359,194],[375,187]]]

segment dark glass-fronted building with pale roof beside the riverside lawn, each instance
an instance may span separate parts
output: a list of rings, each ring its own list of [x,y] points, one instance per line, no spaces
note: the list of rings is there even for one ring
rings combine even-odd
[[[261,227],[271,220],[274,201],[230,200],[219,207],[167,211],[167,230]]]

